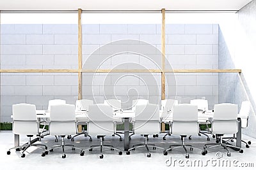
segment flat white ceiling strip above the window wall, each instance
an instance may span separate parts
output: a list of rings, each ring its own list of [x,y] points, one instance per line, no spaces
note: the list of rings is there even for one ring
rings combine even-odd
[[[252,0],[0,0],[0,10],[240,10]]]

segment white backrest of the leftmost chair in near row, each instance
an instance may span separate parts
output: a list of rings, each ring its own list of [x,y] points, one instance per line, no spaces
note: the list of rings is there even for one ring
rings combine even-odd
[[[35,104],[13,104],[13,133],[35,135],[38,134]]]

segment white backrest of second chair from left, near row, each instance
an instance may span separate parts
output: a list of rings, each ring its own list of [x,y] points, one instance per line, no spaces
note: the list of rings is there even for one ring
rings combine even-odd
[[[65,136],[76,134],[76,114],[74,104],[58,104],[51,106],[51,135]]]

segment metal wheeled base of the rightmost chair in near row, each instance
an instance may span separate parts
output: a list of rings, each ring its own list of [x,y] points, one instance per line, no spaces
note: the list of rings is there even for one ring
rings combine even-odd
[[[240,153],[243,153],[243,150],[237,146],[233,146],[233,145],[229,145],[227,144],[227,141],[225,143],[223,143],[223,138],[222,138],[223,135],[220,135],[220,134],[216,134],[216,141],[218,141],[218,143],[207,143],[204,145],[204,150],[202,151],[202,155],[205,155],[207,154],[207,150],[209,148],[213,148],[213,147],[216,147],[216,146],[222,146],[226,151],[227,151],[227,156],[230,157],[230,151],[228,150],[228,148],[236,148],[237,150],[239,150]],[[219,138],[218,138],[219,137]],[[209,146],[210,147],[207,147]]]

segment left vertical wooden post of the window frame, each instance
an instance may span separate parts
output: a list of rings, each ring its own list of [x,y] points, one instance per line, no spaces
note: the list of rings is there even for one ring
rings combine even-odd
[[[78,9],[78,99],[82,99],[82,10]],[[82,125],[78,125],[78,132],[82,132]]]

